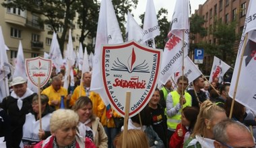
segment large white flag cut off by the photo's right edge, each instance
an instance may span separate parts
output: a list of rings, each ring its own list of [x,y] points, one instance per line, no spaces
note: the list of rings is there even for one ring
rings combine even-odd
[[[256,20],[253,19],[253,16],[256,14],[256,9],[254,9],[255,5],[256,1],[249,1],[245,26],[240,46],[238,48],[236,64],[234,66],[234,72],[228,93],[229,96],[233,98],[236,81],[238,81],[238,87],[236,89],[236,96],[234,99],[254,112],[256,112]],[[245,40],[246,34],[248,34],[247,40]],[[242,54],[244,45],[245,52]],[[243,61],[241,61],[242,56]],[[238,76],[240,62],[242,62],[241,73]],[[237,76],[239,79],[237,79]]]

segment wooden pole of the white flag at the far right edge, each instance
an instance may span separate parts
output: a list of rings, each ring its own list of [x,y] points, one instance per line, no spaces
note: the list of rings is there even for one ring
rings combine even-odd
[[[233,112],[233,109],[234,109],[234,100],[236,99],[236,90],[237,90],[237,87],[238,87],[238,81],[239,81],[239,77],[240,77],[240,73],[241,73],[243,57],[244,57],[244,54],[245,54],[245,46],[246,46],[246,42],[247,42],[247,37],[248,37],[248,33],[245,34],[245,40],[244,40],[243,49],[242,49],[242,52],[241,52],[241,59],[240,59],[240,63],[239,63],[239,67],[238,67],[238,73],[237,73],[237,77],[236,77],[236,84],[234,85],[234,93],[233,93],[229,118],[232,118],[232,112]]]

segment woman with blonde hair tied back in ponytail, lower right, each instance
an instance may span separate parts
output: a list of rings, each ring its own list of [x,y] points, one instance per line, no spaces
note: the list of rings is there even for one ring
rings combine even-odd
[[[213,128],[218,122],[226,118],[226,112],[223,108],[209,100],[203,102],[193,133],[185,142],[184,147],[214,147]]]

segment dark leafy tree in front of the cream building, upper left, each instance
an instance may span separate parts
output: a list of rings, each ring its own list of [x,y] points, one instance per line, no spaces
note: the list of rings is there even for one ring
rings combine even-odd
[[[66,39],[67,30],[73,27],[72,21],[75,17],[75,9],[73,7],[75,0],[12,0],[2,3],[3,7],[20,8],[28,10],[32,13],[44,15],[45,24],[51,26],[52,31],[57,32],[59,28],[63,28],[61,36],[58,36],[61,52]]]

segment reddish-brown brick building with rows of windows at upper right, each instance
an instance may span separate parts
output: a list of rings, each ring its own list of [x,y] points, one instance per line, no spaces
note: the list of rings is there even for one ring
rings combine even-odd
[[[210,44],[217,44],[216,38],[210,34],[210,28],[214,26],[216,20],[220,20],[226,24],[236,20],[238,22],[236,33],[242,32],[248,5],[249,0],[207,0],[203,5],[199,5],[199,9],[195,10],[195,14],[205,19],[203,28],[205,28],[208,33],[207,36],[203,38],[197,34],[193,42],[198,43],[204,41]],[[238,49],[239,41],[240,40],[237,40],[234,44],[234,50]],[[205,55],[203,59],[204,73],[210,73],[213,59],[214,57],[212,55]]]

